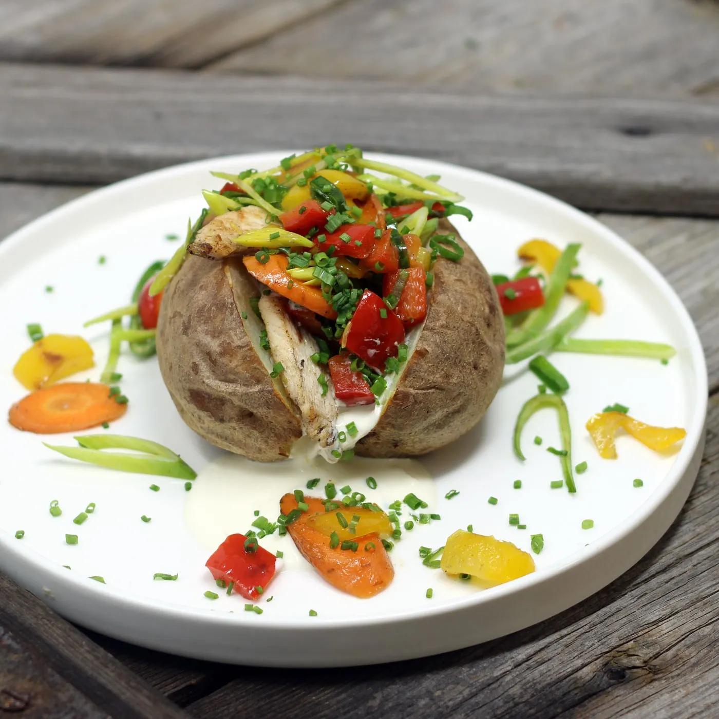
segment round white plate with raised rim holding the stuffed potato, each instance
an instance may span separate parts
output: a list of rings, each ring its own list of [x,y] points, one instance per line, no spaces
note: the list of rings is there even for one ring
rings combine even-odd
[[[97,367],[79,377],[97,380],[108,328],[83,331],[82,322],[126,304],[142,270],[172,254],[177,242],[165,235],[184,237],[188,216],[196,216],[203,206],[200,190],[221,185],[209,170],[265,168],[285,154],[221,157],[142,175],[52,211],[2,242],[3,411],[25,394],[12,366],[28,347],[28,322],[40,322],[46,333],[86,336]],[[526,427],[527,461],[513,457],[513,423],[538,384],[525,363],[508,368],[487,416],[457,443],[421,462],[358,460],[337,469],[254,464],[219,452],[180,421],[156,359],[141,362],[124,354],[119,371],[129,411],[111,431],[154,439],[181,452],[199,474],[193,489],[186,492],[179,480],[73,462],[42,446],[42,439],[74,444],[71,436],[35,436],[4,423],[4,572],[71,620],[136,644],[242,664],[322,667],[436,654],[524,628],[607,585],[659,539],[696,477],[707,398],[700,342],[672,289],[613,232],[553,198],[454,165],[376,157],[423,175],[439,174],[446,186],[467,197],[475,219],[469,224],[460,217],[457,226],[490,272],[516,271],[516,248],[531,237],[560,246],[581,242],[581,271],[587,278],[603,279],[606,311],[590,316],[576,336],[646,339],[677,348],[667,366],[647,359],[552,356],[572,385],[566,400],[574,463],[589,464],[577,476],[577,494],[549,487],[551,480],[561,478],[557,457],[546,452],[547,446],[559,444],[551,411],[539,413]],[[106,256],[104,264],[98,262],[100,255]],[[54,291],[47,293],[46,285]],[[560,312],[575,302],[565,298]],[[678,451],[660,455],[621,436],[618,459],[600,459],[584,425],[592,413],[614,402],[628,405],[643,421],[685,427],[687,439]],[[533,444],[536,435],[544,438],[543,445]],[[375,492],[365,485],[367,475],[377,479]],[[211,551],[227,534],[247,530],[253,510],[274,519],[280,495],[304,487],[311,477],[321,477],[320,487],[329,479],[347,480],[353,490],[385,504],[413,490],[441,521],[404,532],[391,554],[395,580],[371,600],[326,585],[298,559],[289,536],[262,541],[285,551],[284,569],[265,593],[273,600],[260,603],[262,615],[245,612],[237,594],[206,599],[203,593],[216,589],[204,568]],[[633,487],[635,478],[644,480],[644,486]],[[513,489],[514,480],[522,480],[520,490]],[[149,490],[152,482],[160,492]],[[459,496],[446,500],[452,489]],[[488,503],[490,496],[498,503]],[[55,499],[63,509],[58,518],[48,512]],[[89,502],[96,503],[96,512],[75,526],[73,518]],[[509,525],[510,513],[519,514],[526,530]],[[152,521],[140,521],[143,514]],[[582,530],[584,519],[592,519],[594,528]],[[526,551],[531,535],[543,534],[544,550],[532,555],[536,572],[479,590],[421,564],[419,546],[439,547],[469,524],[475,532],[513,541]],[[22,540],[14,536],[19,529],[25,531]],[[65,544],[65,533],[77,534],[79,544]],[[153,581],[155,572],[179,577]],[[87,578],[93,575],[104,577],[106,584]],[[431,599],[425,596],[429,587],[434,590]],[[311,609],[317,616],[309,616]]]

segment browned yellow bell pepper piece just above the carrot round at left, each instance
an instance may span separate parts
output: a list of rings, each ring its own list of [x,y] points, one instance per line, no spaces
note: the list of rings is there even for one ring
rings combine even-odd
[[[48,334],[22,353],[12,373],[24,388],[40,390],[94,365],[92,347],[82,337]]]

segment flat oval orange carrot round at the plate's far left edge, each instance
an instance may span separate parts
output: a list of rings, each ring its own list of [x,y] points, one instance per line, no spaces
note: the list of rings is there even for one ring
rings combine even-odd
[[[116,402],[107,385],[66,382],[22,398],[10,408],[9,419],[17,429],[58,434],[111,422],[126,411],[127,404]]]

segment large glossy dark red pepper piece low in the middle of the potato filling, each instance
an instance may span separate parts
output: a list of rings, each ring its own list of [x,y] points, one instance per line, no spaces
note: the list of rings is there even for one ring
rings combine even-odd
[[[404,326],[383,299],[365,290],[342,336],[342,345],[370,367],[384,370],[388,357],[396,357],[404,342]]]

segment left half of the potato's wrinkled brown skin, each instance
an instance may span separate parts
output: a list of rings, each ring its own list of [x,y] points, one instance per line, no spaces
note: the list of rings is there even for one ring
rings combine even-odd
[[[187,257],[165,289],[157,357],[186,424],[249,459],[285,459],[300,418],[275,390],[244,329],[232,281],[252,282],[232,261]]]

